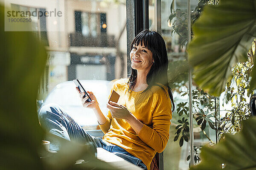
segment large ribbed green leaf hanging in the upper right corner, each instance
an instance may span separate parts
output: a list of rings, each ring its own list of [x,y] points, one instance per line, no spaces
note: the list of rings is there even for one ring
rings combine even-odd
[[[255,6],[255,0],[221,0],[218,6],[206,6],[192,27],[189,61],[195,82],[209,94],[219,96],[232,78],[232,66],[247,59],[256,37]]]

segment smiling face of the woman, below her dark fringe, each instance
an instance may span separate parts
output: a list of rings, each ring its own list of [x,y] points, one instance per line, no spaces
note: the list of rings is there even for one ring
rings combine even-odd
[[[131,68],[138,71],[149,71],[153,64],[152,52],[144,44],[133,45],[130,52]]]

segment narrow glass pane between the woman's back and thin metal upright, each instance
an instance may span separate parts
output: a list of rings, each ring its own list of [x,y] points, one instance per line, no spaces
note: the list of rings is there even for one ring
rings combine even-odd
[[[173,17],[174,14],[176,17]],[[169,20],[170,17],[173,19]],[[189,169],[187,157],[190,155],[189,67],[185,43],[187,40],[187,0],[162,0],[161,26],[169,58],[169,85],[175,101],[169,142],[164,150],[164,168],[165,170],[187,170]]]

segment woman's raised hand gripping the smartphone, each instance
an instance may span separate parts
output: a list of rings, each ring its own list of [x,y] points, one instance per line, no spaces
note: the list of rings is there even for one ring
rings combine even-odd
[[[96,107],[98,107],[98,102],[97,102],[96,97],[93,95],[93,92],[87,91],[87,94],[89,94],[90,98],[92,99],[91,102],[87,102],[86,100],[88,99],[88,96],[86,96],[86,97],[83,98],[83,96],[84,96],[85,93],[84,93],[84,92],[81,93],[81,92],[79,91],[79,88],[78,88],[78,87],[76,87],[76,91],[77,91],[77,93],[78,93],[79,96],[80,96],[80,99],[81,99],[81,102],[82,102],[82,105],[83,105],[84,108],[95,109]]]

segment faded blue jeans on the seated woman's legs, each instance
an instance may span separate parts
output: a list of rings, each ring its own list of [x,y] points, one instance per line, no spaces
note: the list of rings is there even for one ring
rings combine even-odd
[[[95,147],[102,147],[105,150],[129,161],[145,170],[143,161],[128,153],[122,147],[111,144],[101,138],[91,136],[86,130],[79,126],[61,106],[56,104],[44,105],[39,112],[39,122],[44,129],[52,134],[60,136],[69,141],[93,142]],[[50,140],[50,150],[58,150],[58,142]]]

